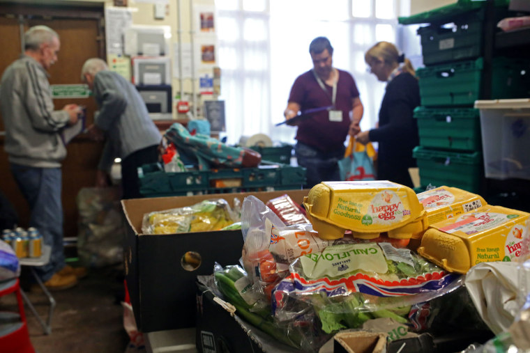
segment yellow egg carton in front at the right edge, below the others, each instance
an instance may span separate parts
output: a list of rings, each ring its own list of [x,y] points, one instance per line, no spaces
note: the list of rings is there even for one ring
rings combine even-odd
[[[432,224],[418,253],[448,271],[465,274],[479,262],[527,256],[529,231],[529,213],[486,205]]]

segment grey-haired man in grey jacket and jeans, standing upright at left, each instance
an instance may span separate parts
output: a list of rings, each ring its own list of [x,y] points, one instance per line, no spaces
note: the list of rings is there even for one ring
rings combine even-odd
[[[50,262],[36,272],[50,290],[70,288],[86,269],[65,264],[61,162],[66,146],[61,130],[77,123],[79,107],[54,110],[46,70],[57,61],[59,36],[47,26],[31,27],[24,35],[24,55],[3,72],[0,109],[6,126],[5,150],[11,173],[29,203],[29,226],[51,246]]]

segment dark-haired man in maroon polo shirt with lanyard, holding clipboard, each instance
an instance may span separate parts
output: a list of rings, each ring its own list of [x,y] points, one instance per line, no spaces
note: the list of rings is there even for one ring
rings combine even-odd
[[[294,148],[298,165],[307,169],[307,185],[340,180],[338,161],[344,157],[345,139],[355,136],[363,117],[363,104],[354,78],[333,68],[333,47],[328,38],[312,40],[313,68],[294,81],[284,115],[298,126]],[[305,114],[306,111],[312,111]]]

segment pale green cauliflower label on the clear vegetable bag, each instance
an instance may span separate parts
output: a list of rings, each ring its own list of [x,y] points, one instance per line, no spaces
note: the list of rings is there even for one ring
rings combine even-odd
[[[331,245],[300,260],[303,272],[310,279],[345,276],[357,269],[379,274],[388,272],[383,251],[375,243]]]

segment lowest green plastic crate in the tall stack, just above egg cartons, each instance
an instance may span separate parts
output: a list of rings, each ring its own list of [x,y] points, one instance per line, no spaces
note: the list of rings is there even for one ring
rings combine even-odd
[[[423,187],[446,185],[480,194],[484,175],[481,152],[430,150],[417,146],[413,156]]]

